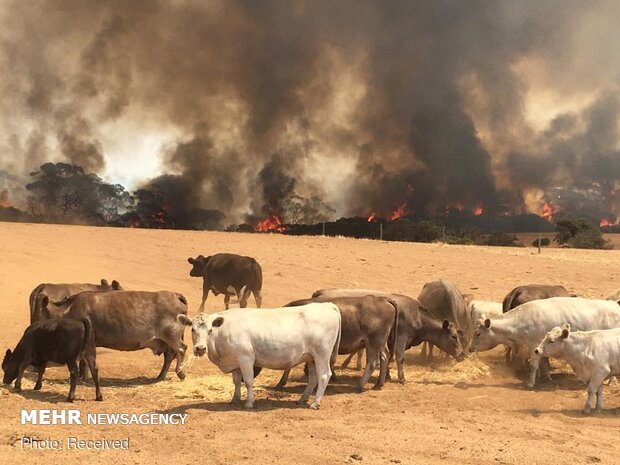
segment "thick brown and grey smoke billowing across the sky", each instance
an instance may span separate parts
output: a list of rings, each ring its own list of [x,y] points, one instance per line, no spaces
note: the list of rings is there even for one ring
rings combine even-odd
[[[144,125],[171,136],[136,154],[163,173],[141,187],[181,218],[300,196],[340,215],[539,212],[550,188],[599,186],[620,215],[612,0],[2,3],[15,176],[50,160],[101,173]]]

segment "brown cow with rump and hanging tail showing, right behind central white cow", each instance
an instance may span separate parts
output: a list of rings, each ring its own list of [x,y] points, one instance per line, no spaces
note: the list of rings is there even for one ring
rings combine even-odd
[[[340,339],[340,355],[356,353],[366,348],[366,369],[360,378],[358,390],[370,379],[379,365],[380,373],[373,389],[381,389],[385,383],[388,368],[387,345],[390,334],[397,333],[398,312],[396,302],[384,297],[367,295],[365,297],[336,297],[296,300],[285,307],[297,307],[312,302],[333,302],[340,309],[342,318],[342,335]],[[286,370],[278,382],[282,387],[288,380],[290,370]]]

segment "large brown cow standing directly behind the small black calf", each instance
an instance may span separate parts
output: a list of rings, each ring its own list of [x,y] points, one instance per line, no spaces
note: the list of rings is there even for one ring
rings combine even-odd
[[[185,378],[180,369],[187,348],[182,341],[185,327],[177,321],[179,313],[187,314],[183,295],[168,291],[82,292],[53,305],[63,317],[89,320],[97,347],[123,351],[149,348],[155,355],[164,354],[156,381],[166,377],[175,358],[175,371]],[[44,311],[49,312],[47,298]]]

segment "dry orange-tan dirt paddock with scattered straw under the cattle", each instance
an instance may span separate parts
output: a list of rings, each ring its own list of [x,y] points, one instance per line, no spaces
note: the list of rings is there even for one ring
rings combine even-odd
[[[544,250],[388,243],[323,237],[149,231],[0,223],[0,342],[13,347],[28,323],[28,295],[41,282],[118,279],[128,289],[185,294],[196,312],[201,282],[187,257],[229,251],[256,257],[264,303],[279,306],[331,286],[369,287],[416,296],[446,278],[464,292],[500,300],[518,284],[560,283],[601,297],[620,286],[620,251]],[[221,298],[208,310],[222,308]],[[73,408],[90,412],[183,412],[183,426],[22,426],[21,409],[69,408],[66,368],[51,368],[43,390],[0,388],[0,463],[620,463],[620,388],[605,387],[606,410],[583,417],[584,387],[556,364],[555,385],[524,389],[501,351],[463,363],[406,360],[408,383],[354,392],[359,375],[338,370],[321,410],[297,407],[297,369],[284,392],[279,373],[257,378],[257,408],[230,406],[232,381],[205,359],[188,378],[151,384],[161,358],[150,351],[99,350],[104,402],[79,385]],[[560,371],[558,371],[558,367]],[[245,392],[244,392],[245,394]],[[29,451],[20,438],[125,438],[130,451]],[[361,459],[361,460],[360,460]]]

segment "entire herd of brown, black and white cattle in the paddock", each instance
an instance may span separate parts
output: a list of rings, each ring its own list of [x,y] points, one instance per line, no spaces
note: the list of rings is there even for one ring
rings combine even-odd
[[[190,276],[203,279],[204,309],[209,292],[224,294],[226,310],[190,318],[187,300],[176,292],[125,290],[109,284],[41,284],[30,295],[30,326],[2,362],[4,382],[21,380],[28,367],[38,373],[41,389],[48,363],[66,364],[73,401],[77,381],[92,375],[96,399],[103,400],[96,347],[134,351],[149,348],[163,355],[156,380],[163,380],[174,360],[184,379],[195,356],[208,355],[224,373],[232,373],[234,402],[247,388],[245,407],[254,406],[253,381],[262,368],[282,370],[283,387],[292,367],[306,364],[308,384],[300,403],[315,392],[312,408],[325,393],[336,355],[357,354],[362,391],[376,368],[374,389],[390,378],[396,359],[398,381],[405,383],[405,351],[424,344],[432,357],[436,346],[457,360],[470,352],[506,346],[507,362],[529,363],[528,386],[550,379],[549,358],[564,359],[588,384],[584,413],[596,395],[602,409],[603,382],[620,375],[620,290],[607,300],[570,295],[562,286],[530,284],[510,291],[503,303],[474,300],[444,280],[424,285],[417,299],[373,289],[321,289],[310,298],[282,308],[261,308],[262,269],[251,257],[234,254],[189,258]],[[246,308],[253,295],[257,308]],[[229,309],[231,297],[240,308]],[[193,353],[183,342],[191,327]],[[428,353],[427,353],[428,352]]]

